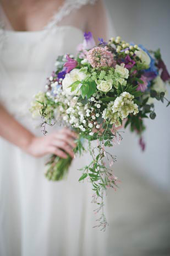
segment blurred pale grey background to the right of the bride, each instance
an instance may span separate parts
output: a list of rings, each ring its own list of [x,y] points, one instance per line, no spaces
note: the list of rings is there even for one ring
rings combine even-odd
[[[170,1],[104,2],[117,35],[147,49],[160,47],[170,71]],[[121,180],[119,189],[108,193],[112,256],[170,255],[170,108],[156,101],[155,111],[156,119],[145,122],[145,152],[129,129],[112,150],[117,155],[114,173]]]

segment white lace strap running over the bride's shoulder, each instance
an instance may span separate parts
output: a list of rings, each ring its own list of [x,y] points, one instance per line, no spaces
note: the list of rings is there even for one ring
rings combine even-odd
[[[53,28],[53,26],[57,25],[61,20],[69,15],[73,10],[80,9],[82,6],[86,4],[94,4],[97,0],[65,0],[65,3],[61,8],[59,8],[58,12],[54,14],[52,20],[45,29]]]

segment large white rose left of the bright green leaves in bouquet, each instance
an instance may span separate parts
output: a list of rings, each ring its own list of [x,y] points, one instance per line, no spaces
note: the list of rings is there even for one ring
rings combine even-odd
[[[71,92],[72,87],[69,86],[76,81],[81,81],[85,79],[86,77],[87,75],[84,72],[81,72],[78,68],[75,68],[74,70],[70,71],[70,73],[67,73],[65,75],[65,78],[63,79],[63,91],[68,95],[80,95],[80,91],[78,91],[79,87],[73,92]]]

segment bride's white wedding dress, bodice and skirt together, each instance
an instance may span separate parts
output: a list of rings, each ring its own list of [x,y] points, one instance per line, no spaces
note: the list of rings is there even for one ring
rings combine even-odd
[[[42,136],[40,120],[29,113],[32,96],[44,90],[57,56],[74,54],[83,41],[80,14],[93,2],[65,1],[42,31],[14,31],[0,7],[0,102],[34,134]],[[77,169],[89,162],[88,154],[74,159],[66,180],[49,182],[45,158],[31,157],[3,138],[0,153],[1,256],[107,255],[107,232],[92,228],[91,185],[78,182]]]

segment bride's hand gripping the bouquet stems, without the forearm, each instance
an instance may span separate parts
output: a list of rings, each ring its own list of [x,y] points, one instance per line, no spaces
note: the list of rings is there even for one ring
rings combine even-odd
[[[67,152],[71,157],[74,157],[73,148],[76,147],[74,141],[77,137],[75,132],[63,128],[44,137],[33,137],[26,148],[26,152],[34,157],[42,157],[52,153],[62,158],[68,157],[65,153]]]

